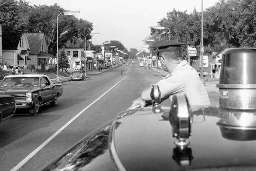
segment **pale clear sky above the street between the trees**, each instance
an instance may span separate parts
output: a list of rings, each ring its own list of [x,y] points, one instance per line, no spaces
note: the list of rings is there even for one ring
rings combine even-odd
[[[166,17],[167,12],[176,9],[191,13],[194,8],[201,11],[201,0],[28,0],[30,4],[53,5],[70,11],[93,23],[94,45],[104,41],[118,40],[128,50],[145,48],[142,40],[150,35],[150,27]],[[213,6],[219,0],[203,0],[203,9]]]

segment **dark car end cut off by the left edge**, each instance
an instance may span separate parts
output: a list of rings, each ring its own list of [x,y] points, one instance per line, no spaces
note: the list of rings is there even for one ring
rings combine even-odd
[[[10,95],[0,95],[0,122],[12,117],[15,110],[14,97]]]

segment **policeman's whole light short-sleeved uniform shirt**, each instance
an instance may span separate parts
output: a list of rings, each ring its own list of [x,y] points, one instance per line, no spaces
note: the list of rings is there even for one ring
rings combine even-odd
[[[191,106],[210,105],[208,93],[197,71],[184,60],[157,85],[162,98],[175,93],[184,93]]]

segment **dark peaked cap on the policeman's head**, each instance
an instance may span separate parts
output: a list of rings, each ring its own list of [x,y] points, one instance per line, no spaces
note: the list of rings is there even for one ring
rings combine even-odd
[[[179,51],[182,45],[187,45],[185,43],[173,41],[173,40],[161,40],[158,42],[155,42],[151,46],[151,48],[158,49],[158,52],[173,52],[173,51]]]

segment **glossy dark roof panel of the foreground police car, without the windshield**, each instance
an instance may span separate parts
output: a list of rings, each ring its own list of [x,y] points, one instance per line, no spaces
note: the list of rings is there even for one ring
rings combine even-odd
[[[220,125],[223,116],[219,118],[219,108],[202,108],[193,112],[190,144],[180,150],[174,144],[176,138],[169,120],[161,117],[168,112],[169,109],[165,108],[155,114],[151,108],[144,108],[127,111],[116,119],[113,128],[115,151],[126,170],[171,171],[212,167],[224,167],[225,170],[238,166],[256,169],[255,130],[240,129],[237,132],[237,127]],[[231,117],[229,114],[224,117]]]

